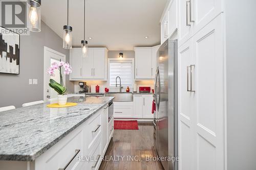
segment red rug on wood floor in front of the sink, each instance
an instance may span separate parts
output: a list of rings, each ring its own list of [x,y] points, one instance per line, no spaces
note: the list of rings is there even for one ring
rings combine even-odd
[[[138,130],[137,120],[114,120],[114,129]]]

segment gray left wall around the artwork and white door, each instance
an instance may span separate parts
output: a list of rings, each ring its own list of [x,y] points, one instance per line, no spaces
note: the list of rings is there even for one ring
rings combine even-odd
[[[0,107],[44,99],[44,46],[66,55],[69,61],[69,50],[62,48],[62,39],[44,22],[41,32],[30,32],[30,36],[20,36],[20,74],[0,73]],[[29,85],[29,79],[38,79],[37,85]],[[68,81],[70,92],[74,91],[73,82]]]

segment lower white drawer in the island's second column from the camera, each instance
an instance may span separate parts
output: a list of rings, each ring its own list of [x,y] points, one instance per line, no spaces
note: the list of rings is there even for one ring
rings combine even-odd
[[[97,170],[101,163],[101,139],[92,145],[92,151],[87,155],[88,160],[85,162],[87,170]]]

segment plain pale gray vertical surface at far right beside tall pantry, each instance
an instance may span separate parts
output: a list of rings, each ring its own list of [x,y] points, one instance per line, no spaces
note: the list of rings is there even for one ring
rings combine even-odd
[[[227,0],[227,167],[256,169],[256,1]]]

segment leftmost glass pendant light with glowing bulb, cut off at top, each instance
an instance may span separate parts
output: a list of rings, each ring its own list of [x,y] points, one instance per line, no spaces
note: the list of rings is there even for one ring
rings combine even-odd
[[[29,0],[29,30],[41,31],[41,0]]]

